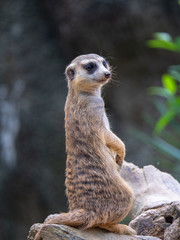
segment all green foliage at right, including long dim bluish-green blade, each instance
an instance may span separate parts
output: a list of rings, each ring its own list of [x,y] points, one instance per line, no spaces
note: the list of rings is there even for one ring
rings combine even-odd
[[[173,40],[168,33],[155,33],[147,45],[180,53],[180,37]],[[170,66],[161,77],[161,86],[150,87],[148,93],[156,96],[152,98],[152,104],[160,117],[158,120],[149,115],[146,117],[153,128],[151,137],[133,131],[139,139],[160,152],[163,158],[156,161],[180,180],[180,65]]]

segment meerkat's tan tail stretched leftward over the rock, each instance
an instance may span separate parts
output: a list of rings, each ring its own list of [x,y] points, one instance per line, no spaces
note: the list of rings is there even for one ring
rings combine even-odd
[[[34,240],[41,240],[41,230],[46,224],[67,225],[71,227],[81,227],[87,229],[94,225],[95,216],[93,212],[87,212],[85,209],[75,209],[68,213],[61,213],[58,216],[46,221],[37,232]]]

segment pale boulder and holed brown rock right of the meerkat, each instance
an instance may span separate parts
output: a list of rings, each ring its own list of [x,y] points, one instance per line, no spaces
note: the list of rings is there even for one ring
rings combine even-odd
[[[124,163],[121,176],[134,191],[130,226],[139,235],[180,239],[180,184],[154,166]]]

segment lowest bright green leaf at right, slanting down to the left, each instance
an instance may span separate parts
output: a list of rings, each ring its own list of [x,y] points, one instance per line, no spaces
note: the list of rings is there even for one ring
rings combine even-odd
[[[168,111],[166,114],[164,114],[156,123],[154,133],[160,134],[161,131],[167,126],[167,124],[173,120],[174,116],[174,111]]]

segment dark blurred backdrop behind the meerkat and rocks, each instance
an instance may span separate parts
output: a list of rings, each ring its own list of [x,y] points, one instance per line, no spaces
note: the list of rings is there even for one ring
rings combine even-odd
[[[177,0],[0,1],[0,239],[67,211],[64,70],[77,55],[114,68],[103,97],[126,160],[180,179],[179,35]]]

